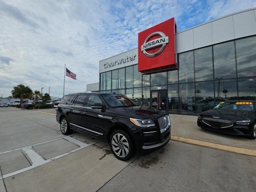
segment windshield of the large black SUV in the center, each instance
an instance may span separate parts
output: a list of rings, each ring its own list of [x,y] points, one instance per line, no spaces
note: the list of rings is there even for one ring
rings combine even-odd
[[[132,100],[123,95],[102,94],[102,97],[110,107],[137,106]]]

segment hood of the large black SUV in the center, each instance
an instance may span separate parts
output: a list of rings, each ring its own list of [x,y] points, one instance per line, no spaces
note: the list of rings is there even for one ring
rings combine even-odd
[[[121,118],[136,118],[136,119],[152,119],[157,120],[158,117],[167,114],[166,111],[158,110],[152,107],[133,106],[133,107],[118,107],[109,108],[108,115],[118,116]]]

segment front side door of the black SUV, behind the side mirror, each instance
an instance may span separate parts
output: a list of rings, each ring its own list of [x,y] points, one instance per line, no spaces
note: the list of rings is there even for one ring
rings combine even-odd
[[[104,114],[104,112],[99,109],[92,109],[91,106],[95,103],[103,104],[98,95],[90,94],[87,99],[86,108],[84,108],[82,113],[82,127],[84,132],[103,138],[104,119],[100,118],[100,115]]]

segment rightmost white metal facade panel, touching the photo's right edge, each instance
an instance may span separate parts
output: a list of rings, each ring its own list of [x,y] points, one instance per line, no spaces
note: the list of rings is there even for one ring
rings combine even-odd
[[[246,11],[233,15],[235,38],[256,34],[256,20],[254,11]]]

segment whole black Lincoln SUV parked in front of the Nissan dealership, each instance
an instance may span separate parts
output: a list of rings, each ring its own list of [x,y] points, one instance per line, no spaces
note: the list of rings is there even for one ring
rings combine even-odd
[[[138,106],[120,94],[64,95],[56,120],[64,135],[76,130],[110,142],[120,160],[130,159],[135,151],[161,148],[170,140],[171,122],[166,111]]]

